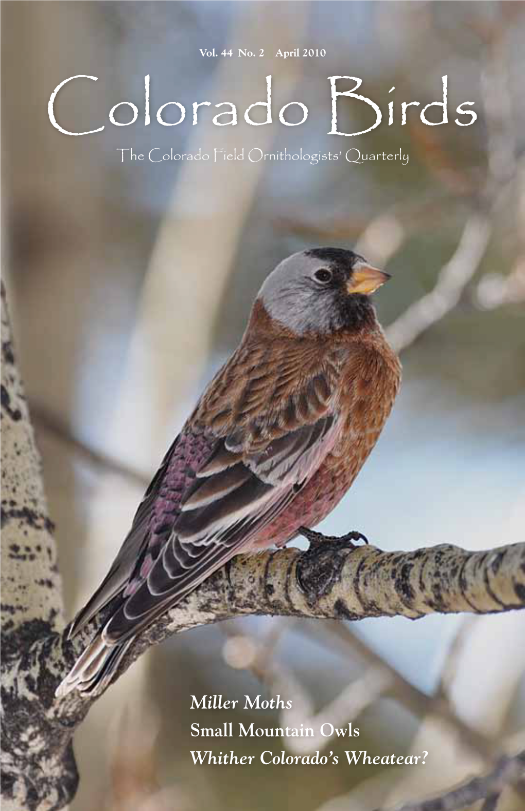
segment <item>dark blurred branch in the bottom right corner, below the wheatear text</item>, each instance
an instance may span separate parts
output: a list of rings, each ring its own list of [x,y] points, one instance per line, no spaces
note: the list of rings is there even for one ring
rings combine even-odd
[[[398,806],[396,811],[463,811],[479,800],[485,800],[483,811],[495,809],[501,792],[525,778],[525,752],[514,757],[501,757],[484,777],[475,777],[432,800],[421,800]]]

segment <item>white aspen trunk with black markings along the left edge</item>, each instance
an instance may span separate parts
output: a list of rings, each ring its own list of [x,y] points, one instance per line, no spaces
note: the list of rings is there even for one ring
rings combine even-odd
[[[69,732],[48,716],[46,642],[62,632],[62,584],[40,457],[15,365],[2,285],[2,808],[62,808],[78,782]],[[32,642],[39,650],[29,654]],[[24,677],[19,678],[23,672]]]

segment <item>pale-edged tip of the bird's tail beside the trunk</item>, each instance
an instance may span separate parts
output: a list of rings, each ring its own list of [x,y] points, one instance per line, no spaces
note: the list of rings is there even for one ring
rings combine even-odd
[[[93,696],[101,693],[110,684],[133,638],[122,643],[108,644],[97,634],[76,660],[66,678],[58,684],[55,696],[58,698],[67,696],[67,693],[75,689]]]

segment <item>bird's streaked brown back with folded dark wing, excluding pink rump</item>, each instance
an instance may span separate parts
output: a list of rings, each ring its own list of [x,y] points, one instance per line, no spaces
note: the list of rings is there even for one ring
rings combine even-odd
[[[241,345],[204,393],[186,431],[213,434],[213,450],[147,576],[105,626],[107,642],[137,633],[246,547],[334,445],[337,358],[298,344]]]

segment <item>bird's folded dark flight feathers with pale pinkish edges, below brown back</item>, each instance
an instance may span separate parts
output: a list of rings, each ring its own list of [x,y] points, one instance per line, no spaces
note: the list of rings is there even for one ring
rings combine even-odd
[[[336,426],[327,414],[256,453],[237,450],[239,436],[217,440],[148,576],[105,626],[106,642],[137,633],[249,545],[321,464]]]

